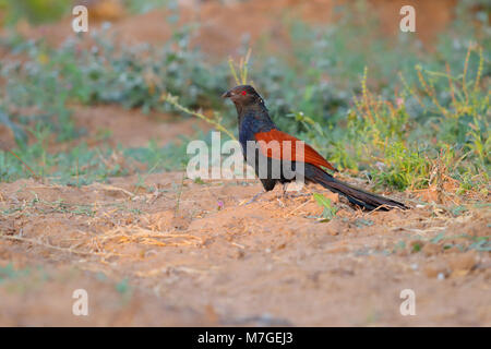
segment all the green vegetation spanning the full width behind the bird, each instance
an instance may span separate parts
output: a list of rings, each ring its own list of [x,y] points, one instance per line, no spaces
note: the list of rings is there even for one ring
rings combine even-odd
[[[0,122],[17,142],[9,151],[25,164],[0,152],[0,180],[35,173],[83,185],[132,173],[132,161],[146,164],[146,171],[180,169],[185,140],[161,148],[155,142],[129,149],[81,144],[58,154],[47,152],[47,142],[52,135],[62,143],[83,134],[72,120],[72,104],[191,115],[235,139],[236,118],[224,117],[235,112],[219,96],[231,84],[251,83],[283,130],[308,141],[340,169],[396,190],[442,191],[454,181],[458,194],[486,196],[490,26],[488,16],[468,11],[471,5],[457,5],[455,23],[431,55],[415,36],[383,38],[364,1],[336,8],[340,20],[322,27],[287,20],[292,57],[261,50],[253,57],[243,49],[237,63],[206,63],[204,53],[190,46],[193,25],[176,29],[160,48],[119,46],[104,31],[94,31],[91,50],[82,49],[79,39],[58,49],[17,36],[2,39],[12,52],[26,56],[23,63],[0,67],[5,81]],[[363,43],[354,40],[360,28]],[[203,109],[213,110],[213,117]]]

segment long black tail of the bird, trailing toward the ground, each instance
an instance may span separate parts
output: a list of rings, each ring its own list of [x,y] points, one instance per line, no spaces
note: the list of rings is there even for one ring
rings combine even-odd
[[[379,209],[381,209],[381,210],[388,210],[394,207],[402,208],[402,209],[409,208],[405,204],[399,203],[395,200],[375,195],[375,194],[366,192],[361,189],[348,185],[342,181],[338,181],[331,174],[324,172],[323,170],[321,170],[316,167],[309,168],[309,170],[306,168],[307,179],[314,181],[333,192],[336,192],[338,194],[346,196],[349,200],[349,202],[355,205],[364,207],[367,209],[375,209],[375,208],[380,207]]]

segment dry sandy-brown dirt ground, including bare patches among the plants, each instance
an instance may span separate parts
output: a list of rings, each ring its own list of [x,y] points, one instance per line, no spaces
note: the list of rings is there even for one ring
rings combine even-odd
[[[267,9],[279,12],[286,2]],[[289,2],[312,17],[325,3]],[[264,31],[276,22],[261,3],[229,11],[258,8],[253,27]],[[214,5],[202,4],[201,19],[212,17],[202,31],[219,56],[231,49],[213,43],[228,35],[233,47],[247,22],[224,32],[231,16]],[[158,31],[161,17],[122,17],[113,29],[158,43],[168,33]],[[56,39],[62,31],[53,28],[37,33]],[[105,142],[141,146],[203,128],[113,106],[75,108],[74,119],[92,146],[106,130]],[[412,209],[364,213],[319,186],[287,197],[277,189],[247,204],[261,190],[255,180],[197,183],[180,172],[82,188],[49,179],[0,183],[0,325],[491,326],[491,255],[476,248],[491,236],[489,206],[476,198],[489,196],[457,196],[455,189],[385,193]],[[319,221],[311,192],[336,203],[333,220]],[[72,314],[76,289],[88,292],[88,316]],[[415,316],[399,312],[404,289],[415,291]]]

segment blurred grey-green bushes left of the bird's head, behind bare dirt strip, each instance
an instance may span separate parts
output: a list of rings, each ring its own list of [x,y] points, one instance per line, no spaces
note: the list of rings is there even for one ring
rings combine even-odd
[[[192,108],[217,106],[226,83],[226,71],[211,69],[203,53],[191,49],[190,27],[176,32],[163,48],[149,45],[119,46],[103,29],[93,31],[95,45],[83,49],[80,38],[60,48],[40,41],[4,41],[3,46],[28,57],[28,61],[5,61],[0,76],[0,122],[22,140],[31,128],[49,130],[63,142],[79,136],[70,104],[120,104],[125,108],[169,111],[161,95],[179,95],[181,105]],[[7,112],[9,111],[9,112]],[[25,132],[25,131],[24,131]]]

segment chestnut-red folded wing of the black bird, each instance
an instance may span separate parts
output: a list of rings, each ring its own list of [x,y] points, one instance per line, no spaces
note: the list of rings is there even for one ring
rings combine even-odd
[[[261,153],[264,156],[274,158],[274,159],[284,159],[284,160],[296,160],[296,145],[297,142],[301,142],[300,140],[289,135],[279,130],[271,130],[268,132],[259,132],[255,134],[255,140],[259,142]],[[263,141],[263,142],[260,142]],[[277,141],[279,145],[278,151],[274,151],[274,144],[270,143],[272,141]],[[284,141],[289,141],[291,143],[291,147],[284,146]],[[270,146],[267,146],[270,144]],[[331,165],[325,158],[322,157],[318,152],[315,152],[309,144],[303,143],[304,156],[303,161],[307,164],[311,164],[316,167],[326,167],[333,171],[337,171],[336,168]]]

